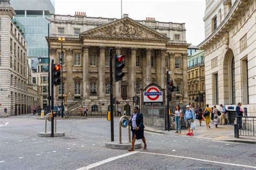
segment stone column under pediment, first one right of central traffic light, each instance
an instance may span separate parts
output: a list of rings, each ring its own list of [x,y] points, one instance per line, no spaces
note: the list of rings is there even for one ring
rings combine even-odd
[[[136,95],[136,51],[137,48],[131,48],[131,67],[129,67],[129,72],[131,73],[131,79],[129,81],[129,87],[131,88],[131,93],[129,93],[131,94],[130,97]]]

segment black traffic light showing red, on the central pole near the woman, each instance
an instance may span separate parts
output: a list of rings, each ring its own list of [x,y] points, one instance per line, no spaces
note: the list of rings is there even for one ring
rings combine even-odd
[[[122,71],[125,64],[122,61],[125,59],[125,55],[114,56],[114,81],[122,80],[125,73]]]

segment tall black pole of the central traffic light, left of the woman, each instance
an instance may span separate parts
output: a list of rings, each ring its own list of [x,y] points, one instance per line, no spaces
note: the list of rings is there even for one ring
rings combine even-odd
[[[111,131],[111,141],[114,141],[114,116],[113,116],[113,48],[109,49],[109,74],[110,74],[110,131]]]

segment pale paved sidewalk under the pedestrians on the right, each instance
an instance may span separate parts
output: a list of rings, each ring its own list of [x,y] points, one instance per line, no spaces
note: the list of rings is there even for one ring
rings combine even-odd
[[[239,138],[234,138],[234,125],[218,125],[218,128],[215,128],[215,126],[211,123],[211,128],[206,129],[204,121],[202,122],[202,126],[199,126],[198,120],[196,120],[195,122],[196,130],[194,130],[194,136],[192,136],[192,138],[256,144],[256,137],[240,136]],[[179,134],[175,133],[176,130],[163,131],[151,128],[149,126],[145,126],[145,131],[163,134],[173,134],[177,136],[186,136],[187,133],[187,129],[181,130],[181,134]]]

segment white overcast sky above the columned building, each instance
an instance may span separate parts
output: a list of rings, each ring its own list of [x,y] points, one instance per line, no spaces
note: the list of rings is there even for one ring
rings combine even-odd
[[[55,0],[55,12],[89,17],[120,18],[121,0]],[[136,20],[154,17],[160,22],[186,23],[186,40],[199,45],[204,40],[205,0],[123,0],[123,13]]]

